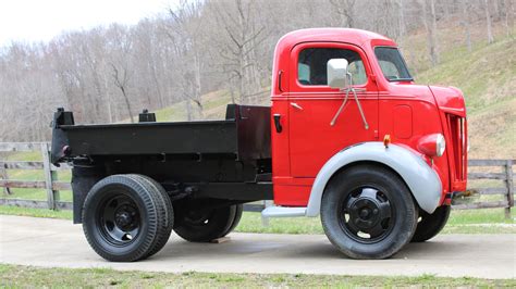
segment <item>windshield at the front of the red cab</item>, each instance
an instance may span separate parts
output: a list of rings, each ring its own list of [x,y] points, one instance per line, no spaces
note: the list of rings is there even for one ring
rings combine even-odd
[[[397,48],[377,47],[374,54],[389,81],[414,80]]]

